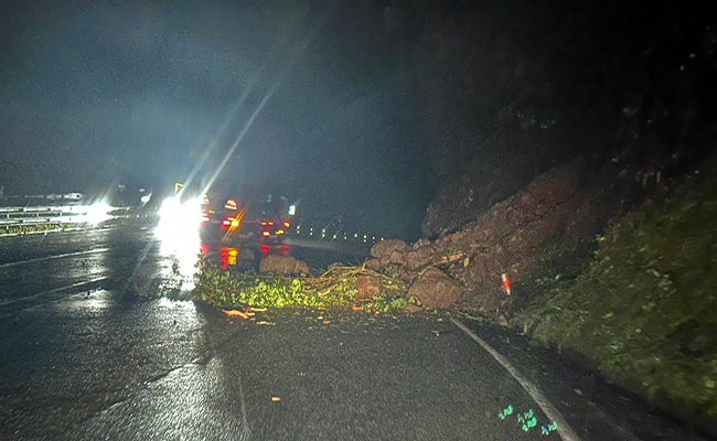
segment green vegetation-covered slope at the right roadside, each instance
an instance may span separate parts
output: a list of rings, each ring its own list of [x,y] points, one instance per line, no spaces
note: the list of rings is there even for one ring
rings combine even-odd
[[[651,399],[717,416],[717,171],[613,219],[593,260],[516,316]]]

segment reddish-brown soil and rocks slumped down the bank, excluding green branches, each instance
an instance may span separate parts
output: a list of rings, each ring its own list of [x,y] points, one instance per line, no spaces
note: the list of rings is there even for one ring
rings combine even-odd
[[[555,168],[434,243],[420,239],[410,248],[399,240],[377,244],[366,267],[396,273],[407,283],[425,277],[428,268],[440,268],[464,294],[461,309],[500,316],[510,300],[503,273],[520,283],[532,276],[546,248],[556,243],[566,252],[585,247],[622,206],[628,173],[609,170],[582,185],[581,170],[579,160]],[[434,270],[429,275],[438,277]]]

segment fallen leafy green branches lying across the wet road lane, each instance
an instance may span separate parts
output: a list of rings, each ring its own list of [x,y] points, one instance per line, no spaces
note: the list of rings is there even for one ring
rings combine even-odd
[[[356,299],[358,276],[382,278],[382,295]],[[217,306],[256,308],[350,308],[373,313],[403,310],[409,304],[408,289],[397,277],[363,267],[334,267],[317,277],[263,276],[222,271],[204,265],[194,277],[195,299]]]

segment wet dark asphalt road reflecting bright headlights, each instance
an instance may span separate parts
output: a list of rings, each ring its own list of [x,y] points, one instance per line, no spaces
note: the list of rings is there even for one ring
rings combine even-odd
[[[267,312],[276,325],[259,326],[159,295],[173,262],[150,229],[0,238],[0,439],[559,440],[446,314]],[[700,439],[520,336],[461,320],[582,440]],[[537,426],[524,432],[515,417],[528,409]]]

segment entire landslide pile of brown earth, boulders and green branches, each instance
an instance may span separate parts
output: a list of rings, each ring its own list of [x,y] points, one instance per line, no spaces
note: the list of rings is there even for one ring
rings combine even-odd
[[[389,239],[376,244],[371,250],[372,259],[361,271],[346,270],[351,276],[336,284],[335,299],[307,295],[312,287],[307,280],[312,278],[290,276],[309,273],[308,266],[282,256],[268,256],[259,265],[263,275],[280,277],[223,276],[207,267],[197,280],[196,295],[215,304],[344,305],[356,299],[385,298],[383,281],[388,278],[404,283],[407,292],[403,299],[409,301],[410,312],[446,309],[460,302],[463,310],[502,318],[511,302],[502,290],[503,273],[515,283],[532,278],[546,248],[556,243],[568,251],[580,248],[586,238],[592,241],[609,217],[622,207],[634,173],[613,168],[593,178],[591,185],[581,185],[582,170],[579,160],[553,169],[461,230],[432,243],[419,239],[408,246],[403,240]],[[639,180],[642,184],[646,182],[643,178]],[[245,255],[239,252],[239,258]],[[247,262],[237,262],[240,267],[238,263]],[[293,280],[308,283],[309,288],[295,286]],[[397,299],[390,292],[388,297]],[[396,300],[394,304],[403,301]]]

